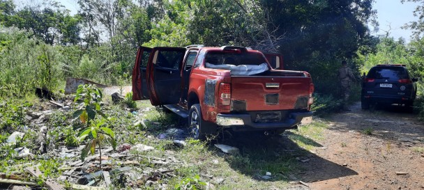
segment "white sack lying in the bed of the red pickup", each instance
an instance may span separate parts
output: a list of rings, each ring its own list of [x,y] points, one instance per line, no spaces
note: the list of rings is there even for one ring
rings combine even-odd
[[[206,68],[219,69],[219,70],[230,70],[232,76],[250,76],[266,72],[268,65],[262,63],[261,65],[213,65],[211,63],[206,63]]]

